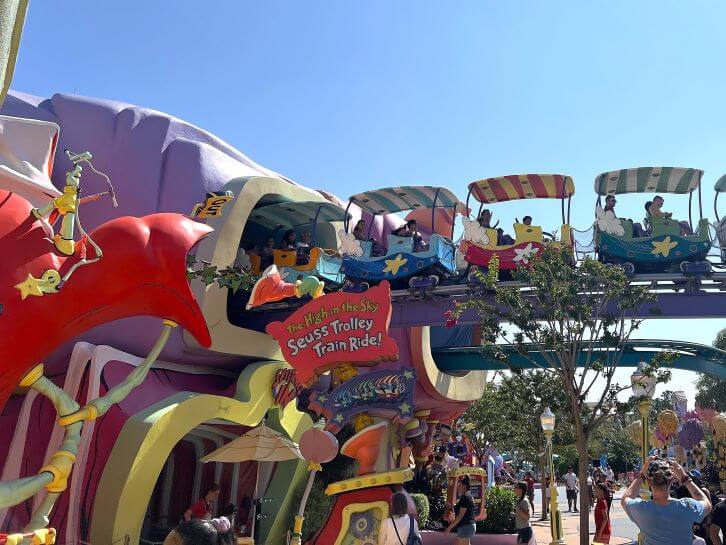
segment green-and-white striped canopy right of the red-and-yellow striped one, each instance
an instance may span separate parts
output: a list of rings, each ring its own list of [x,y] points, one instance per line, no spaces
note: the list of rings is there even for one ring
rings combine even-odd
[[[604,172],[595,178],[598,195],[621,193],[690,193],[701,183],[696,168],[640,167]]]

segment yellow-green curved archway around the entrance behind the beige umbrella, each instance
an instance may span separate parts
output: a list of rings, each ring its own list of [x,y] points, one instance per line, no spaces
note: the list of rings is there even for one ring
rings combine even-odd
[[[246,385],[238,399],[180,392],[140,411],[121,430],[101,477],[91,522],[91,543],[139,542],[146,507],[154,485],[172,448],[190,430],[210,420],[226,420],[244,426],[259,424],[273,406],[270,385],[284,364],[264,362],[249,365],[240,377]],[[254,392],[254,399],[250,392]],[[284,411],[271,411],[267,423],[292,439],[312,425],[310,418],[294,404]],[[272,488],[284,491],[301,483],[305,462],[284,462],[278,466]],[[280,494],[276,515],[265,521],[263,533],[282,541],[288,522],[292,494]]]

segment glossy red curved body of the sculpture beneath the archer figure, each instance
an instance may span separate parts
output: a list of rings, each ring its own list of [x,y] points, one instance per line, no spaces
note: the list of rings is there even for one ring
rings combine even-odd
[[[77,257],[55,250],[22,197],[0,190],[0,410],[20,379],[61,343],[130,316],[179,323],[203,346],[209,331],[186,279],[186,255],[211,228],[180,214],[122,217],[91,233],[101,261],[79,268],[55,294],[21,300],[15,285],[49,270],[63,276]],[[76,252],[78,254],[78,252]],[[93,250],[88,249],[88,258]]]

